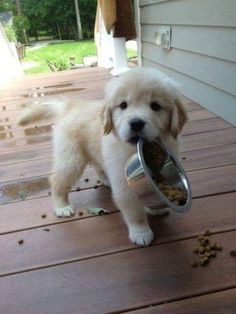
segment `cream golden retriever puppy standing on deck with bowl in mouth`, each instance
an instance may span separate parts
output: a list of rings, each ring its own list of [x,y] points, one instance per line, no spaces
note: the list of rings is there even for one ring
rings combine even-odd
[[[59,118],[51,176],[55,214],[74,215],[68,194],[91,163],[111,187],[130,240],[149,245],[154,235],[143,204],[127,184],[125,166],[139,138],[152,141],[159,137],[178,155],[178,136],[187,115],[174,81],[153,69],[134,68],[107,84],[104,101],[34,105],[26,109],[19,124],[55,115]]]

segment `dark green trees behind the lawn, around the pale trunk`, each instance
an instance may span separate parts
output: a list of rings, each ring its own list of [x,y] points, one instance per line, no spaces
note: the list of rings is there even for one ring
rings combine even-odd
[[[96,0],[78,0],[84,38],[93,38]],[[77,39],[74,0],[22,0],[22,10],[29,18],[29,35],[36,39],[41,31],[46,36]]]

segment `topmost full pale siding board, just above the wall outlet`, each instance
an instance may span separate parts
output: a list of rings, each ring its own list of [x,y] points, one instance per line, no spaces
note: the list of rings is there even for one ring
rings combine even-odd
[[[175,0],[141,7],[141,23],[236,27],[235,0]]]

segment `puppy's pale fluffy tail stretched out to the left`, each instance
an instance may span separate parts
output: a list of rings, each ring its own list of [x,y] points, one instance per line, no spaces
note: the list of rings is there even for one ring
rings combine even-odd
[[[26,107],[17,123],[27,125],[35,121],[58,117],[65,112],[66,107],[66,103],[62,101],[34,103]]]

